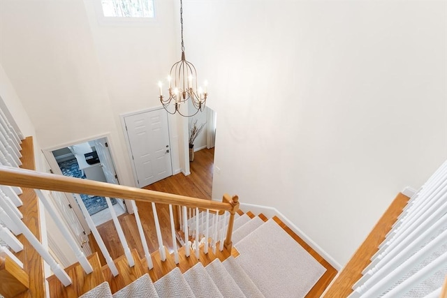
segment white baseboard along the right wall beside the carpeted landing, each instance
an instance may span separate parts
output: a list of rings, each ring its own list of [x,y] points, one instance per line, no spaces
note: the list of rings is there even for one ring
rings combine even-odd
[[[217,202],[221,202],[220,200],[215,200]],[[245,211],[251,211],[254,214],[264,214],[268,218],[272,218],[273,216],[278,216],[283,223],[285,223],[288,228],[291,228],[295,234],[297,234],[301,239],[303,239],[314,251],[316,251],[319,255],[321,255],[326,261],[329,262],[332,267],[334,267],[337,271],[340,271],[342,269],[342,265],[339,264],[329,253],[326,253],[323,248],[318,246],[318,244],[315,243],[314,240],[312,240],[305,232],[302,232],[300,228],[298,228],[292,221],[290,221],[284,214],[281,214],[281,212],[274,208],[274,207],[267,207],[267,206],[261,206],[256,204],[247,204],[247,203],[240,203],[241,209],[244,209]]]

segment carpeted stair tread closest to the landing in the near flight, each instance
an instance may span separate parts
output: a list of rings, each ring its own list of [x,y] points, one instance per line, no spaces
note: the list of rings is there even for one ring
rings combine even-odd
[[[233,256],[230,256],[230,258],[223,261],[222,264],[231,277],[233,277],[237,285],[239,285],[239,288],[244,292],[245,296],[254,298],[264,297],[263,293],[261,293],[254,282],[251,281],[251,278],[247,275],[244,269],[237,264],[237,261]]]

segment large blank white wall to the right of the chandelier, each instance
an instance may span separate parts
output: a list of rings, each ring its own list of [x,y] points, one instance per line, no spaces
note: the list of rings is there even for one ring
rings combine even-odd
[[[213,198],[276,207],[343,265],[447,154],[445,1],[184,1],[219,114]]]

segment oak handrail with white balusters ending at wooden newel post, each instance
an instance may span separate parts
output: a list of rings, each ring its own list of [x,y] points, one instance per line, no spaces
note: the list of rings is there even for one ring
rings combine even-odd
[[[223,249],[223,246],[225,246],[229,250],[231,249],[231,247],[232,247],[231,234],[232,234],[232,229],[233,229],[234,215],[235,215],[235,212],[237,211],[237,209],[239,209],[239,202],[238,202],[237,196],[230,198],[229,195],[224,195],[223,202],[215,202],[215,201],[210,201],[210,200],[201,200],[198,198],[190,198],[190,197],[186,197],[183,195],[173,195],[173,194],[161,193],[161,192],[157,192],[157,191],[149,191],[149,190],[145,190],[145,189],[141,189],[141,188],[131,188],[128,186],[107,184],[107,183],[98,182],[98,181],[90,181],[87,179],[64,177],[64,176],[55,175],[55,174],[47,174],[47,173],[36,172],[36,171],[32,171],[32,170],[23,170],[23,169],[19,169],[19,168],[15,168],[15,167],[7,167],[7,166],[1,166],[1,165],[0,165],[0,185],[20,186],[22,188],[34,188],[34,189],[36,189],[36,192],[39,194],[39,197],[41,197],[40,190],[47,190],[47,191],[59,191],[59,192],[74,193],[74,194],[82,193],[82,194],[86,194],[86,195],[96,195],[96,196],[104,197],[104,198],[122,198],[122,199],[128,199],[128,200],[136,200],[136,201],[140,201],[140,202],[151,202],[152,209],[154,211],[155,224],[156,224],[156,226],[158,226],[158,228],[156,228],[156,234],[157,234],[157,239],[159,241],[159,251],[160,251],[161,257],[163,257],[163,253],[165,253],[166,249],[163,246],[161,230],[159,228],[158,218],[156,216],[156,205],[155,204],[169,204],[170,205],[171,228],[173,226],[175,226],[174,219],[176,218],[172,212],[172,205],[181,207],[182,215],[183,215],[182,216],[183,223],[180,223],[177,225],[182,225],[184,228],[185,246],[186,246],[185,254],[186,254],[186,256],[189,256],[190,248],[192,248],[195,250],[197,258],[199,255],[198,249],[200,246],[199,236],[200,236],[200,234],[203,235],[203,233],[200,233],[200,231],[199,231],[199,225],[198,225],[199,219],[198,218],[196,219],[195,226],[193,228],[191,227],[191,225],[189,225],[188,213],[187,213],[186,209],[187,208],[194,209],[195,210],[194,213],[196,214],[196,216],[199,216],[199,211],[198,211],[199,209],[205,210],[203,212],[206,212],[206,214],[207,214],[207,223],[208,223],[208,215],[210,214],[210,211],[215,212],[214,227],[213,227],[215,232],[214,232],[214,234],[212,234],[212,239],[210,240],[214,252],[216,250],[217,242],[219,241],[219,239],[221,242],[221,245],[219,247],[220,250]],[[3,202],[2,204],[6,204],[5,203],[6,200],[0,200],[0,201]],[[96,230],[96,227],[95,227],[93,221],[91,221],[88,211],[85,208],[84,204],[82,203],[82,199],[78,198],[78,202],[82,209],[82,213],[85,215],[85,217],[87,219],[89,228],[91,229],[91,232],[94,234],[94,237],[98,243],[98,246],[100,246],[101,252],[103,253],[103,255],[110,267],[110,270],[112,271],[112,274],[114,274],[114,276],[116,276],[118,274],[118,271],[115,267],[113,260],[110,258],[110,254],[108,253],[107,248],[105,248],[105,244],[103,243],[103,240],[101,239],[101,235]],[[108,204],[111,205],[110,199],[109,199]],[[135,203],[133,202],[133,204],[135,204]],[[47,207],[50,207],[50,206],[47,206]],[[112,211],[113,208],[109,208],[109,209],[113,215],[113,211]],[[12,209],[5,209],[5,211],[6,211],[6,214],[15,213],[15,211],[13,211]],[[153,264],[152,264],[151,258],[149,257],[150,253],[147,249],[147,243],[145,240],[144,231],[141,227],[140,218],[138,215],[138,209],[135,208],[135,211],[136,211],[135,218],[138,218],[136,221],[137,221],[137,225],[138,225],[138,230],[140,232],[140,238],[142,239],[143,248],[145,249],[145,257],[147,258],[147,265],[148,265],[149,269],[152,269]],[[226,238],[225,238],[224,237],[224,234],[225,234],[224,229],[226,226],[225,218],[226,218],[227,211],[229,211],[229,213],[230,213],[230,216],[229,216],[230,220],[228,223],[228,228],[226,230]],[[223,217],[225,217],[225,218],[223,218],[223,220],[221,219],[222,215],[223,215]],[[17,217],[17,218],[15,218],[14,223],[16,225],[19,225],[20,228],[24,228],[20,225],[20,223],[21,223],[20,219],[17,221],[17,219],[18,219],[17,214],[15,214],[15,217]],[[191,215],[189,216],[189,218],[191,218]],[[114,222],[115,222],[115,227],[117,228],[117,230],[121,231],[121,232],[119,232],[119,234],[121,234],[120,239],[122,241],[122,244],[124,245],[124,250],[126,251],[126,246],[127,246],[127,244],[125,243],[126,240],[124,237],[124,233],[122,233],[122,228],[119,226],[119,221],[116,218],[116,214],[114,216]],[[62,226],[62,224],[61,224],[61,226]],[[189,240],[189,234],[192,230],[195,230],[196,239],[193,239],[193,241],[191,241],[192,245],[190,246],[190,243],[188,240]],[[208,226],[205,228],[202,227],[202,231],[203,230],[206,230],[207,231],[206,234],[208,234],[208,230],[210,230],[210,228]],[[68,236],[67,231],[64,231],[64,229],[62,229],[61,232],[63,232],[64,236],[66,236],[66,237]],[[31,235],[29,235],[29,236],[31,239],[30,242],[36,244],[35,247],[38,247],[39,245],[41,245],[40,242],[37,241],[37,239],[32,239]],[[173,236],[173,244],[175,244],[175,242],[176,242],[175,235],[172,235],[172,236]],[[203,235],[203,238],[204,237],[205,237],[205,235]],[[209,239],[208,238],[204,239],[203,242],[205,244],[204,251],[205,251],[205,253],[207,253],[207,246],[209,243]],[[145,244],[146,244],[146,247],[145,247]],[[176,246],[176,244],[175,244],[175,246]],[[80,252],[79,248],[73,247],[73,250],[75,251],[75,254],[79,257],[78,260],[81,263],[85,264],[85,255],[83,255],[82,252]],[[48,253],[48,251],[46,251],[46,250],[42,251],[41,248],[39,248],[38,251],[43,256],[45,261],[50,265],[50,267],[54,271],[54,274],[57,276],[57,278],[59,278],[59,280],[64,285],[69,285],[71,283],[71,280],[69,279],[68,276],[64,276],[64,274],[65,274],[64,270],[61,270],[59,268],[59,265],[51,257],[50,253]],[[175,259],[176,259],[176,263],[177,263],[178,255],[177,255],[176,251],[177,251],[177,249],[175,249]],[[130,258],[131,258],[131,255],[130,255]],[[129,262],[130,266],[133,265],[132,261],[133,261],[133,259],[128,258],[128,262]],[[85,264],[85,271],[87,272],[87,274],[90,271],[89,265],[87,265],[87,264]]]

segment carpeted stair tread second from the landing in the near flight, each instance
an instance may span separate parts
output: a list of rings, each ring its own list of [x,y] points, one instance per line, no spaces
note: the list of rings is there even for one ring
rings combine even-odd
[[[223,297],[246,297],[219,259],[212,261],[205,269]]]

